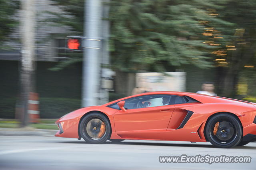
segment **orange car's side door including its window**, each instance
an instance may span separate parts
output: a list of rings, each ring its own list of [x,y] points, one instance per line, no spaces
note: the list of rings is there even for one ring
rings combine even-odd
[[[126,99],[126,111],[119,110],[114,113],[117,134],[126,134],[126,137],[132,138],[137,132],[165,132],[175,109],[174,105],[169,105],[171,97],[145,95]]]

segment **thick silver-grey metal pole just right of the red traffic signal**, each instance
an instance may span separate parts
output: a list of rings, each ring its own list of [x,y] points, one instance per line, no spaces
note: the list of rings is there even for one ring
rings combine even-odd
[[[98,105],[100,97],[102,1],[85,0],[84,18],[82,107]]]

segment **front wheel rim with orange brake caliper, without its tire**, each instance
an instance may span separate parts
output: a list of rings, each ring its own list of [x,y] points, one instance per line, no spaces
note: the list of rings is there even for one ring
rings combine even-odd
[[[102,126],[105,126],[102,131]],[[83,134],[91,141],[100,140],[106,135],[106,124],[100,117],[90,117],[84,122]]]

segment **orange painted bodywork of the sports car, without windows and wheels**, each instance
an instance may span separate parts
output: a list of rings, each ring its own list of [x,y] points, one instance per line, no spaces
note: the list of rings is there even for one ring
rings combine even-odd
[[[199,102],[127,109],[126,111],[107,107],[131,97],[161,94],[188,96]],[[211,97],[197,93],[163,91],[142,93],[124,97],[101,106],[84,107],[73,111],[56,121],[57,125],[61,125],[63,132],[59,130],[55,136],[80,138],[80,120],[84,115],[91,112],[101,112],[108,117],[112,130],[111,139],[206,142],[204,136],[206,121],[211,115],[220,112],[236,115],[241,121],[244,136],[246,134],[256,135],[256,124],[253,123],[256,116],[255,103]],[[182,128],[178,128],[188,112],[192,112],[191,117]]]

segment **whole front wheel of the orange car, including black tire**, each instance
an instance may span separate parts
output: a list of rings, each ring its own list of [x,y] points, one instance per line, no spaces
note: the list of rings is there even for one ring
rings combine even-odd
[[[90,113],[82,118],[79,132],[86,142],[100,144],[110,138],[111,125],[108,118],[103,114]]]

